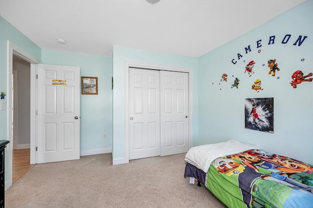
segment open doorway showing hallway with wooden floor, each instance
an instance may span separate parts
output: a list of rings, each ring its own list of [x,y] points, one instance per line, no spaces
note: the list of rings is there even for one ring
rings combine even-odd
[[[30,63],[14,54],[12,61],[13,184],[35,164],[30,164]]]

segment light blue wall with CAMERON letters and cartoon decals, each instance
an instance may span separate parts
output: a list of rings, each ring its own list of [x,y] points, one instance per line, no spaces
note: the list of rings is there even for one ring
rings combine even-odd
[[[198,145],[236,139],[313,164],[313,82],[296,89],[290,84],[294,71],[313,72],[312,20],[313,1],[309,0],[199,58]],[[286,34],[291,38],[282,44]],[[295,46],[299,35],[308,38]],[[270,36],[275,36],[274,44],[268,44]],[[257,48],[259,40],[262,47]],[[251,52],[246,54],[248,45]],[[243,56],[240,60],[238,53]],[[276,59],[280,68],[275,77],[268,75],[270,59]],[[244,71],[251,60],[256,62],[255,73],[248,77]],[[223,73],[228,74],[227,83],[220,81]],[[239,88],[231,89],[236,77]],[[263,91],[251,89],[256,79],[261,79]],[[271,97],[274,133],[245,129],[244,99]]]

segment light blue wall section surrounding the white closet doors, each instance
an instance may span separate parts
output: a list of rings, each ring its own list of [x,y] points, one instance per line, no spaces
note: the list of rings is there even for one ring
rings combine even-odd
[[[124,64],[125,62],[149,63],[193,69],[193,136],[198,134],[198,58],[138,50],[121,46],[113,47],[113,160],[124,158]]]

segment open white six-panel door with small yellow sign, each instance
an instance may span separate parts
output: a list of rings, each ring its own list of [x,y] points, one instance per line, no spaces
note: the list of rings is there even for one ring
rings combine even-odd
[[[80,68],[38,64],[37,163],[80,158]]]

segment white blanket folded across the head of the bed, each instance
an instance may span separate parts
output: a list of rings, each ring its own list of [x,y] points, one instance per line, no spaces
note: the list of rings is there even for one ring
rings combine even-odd
[[[237,154],[249,149],[260,149],[260,147],[241,143],[236,140],[211,145],[194,146],[187,152],[185,162],[198,167],[206,173],[211,163],[216,158]]]

